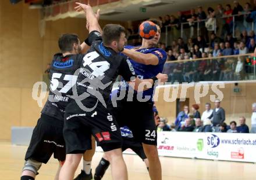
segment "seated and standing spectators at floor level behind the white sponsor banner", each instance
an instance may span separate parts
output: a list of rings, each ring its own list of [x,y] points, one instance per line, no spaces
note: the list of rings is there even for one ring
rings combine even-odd
[[[211,104],[205,104],[205,111],[200,115],[199,106],[193,104],[191,112],[185,105],[179,112],[175,123],[168,124],[166,118],[160,118],[158,131],[185,131],[185,132],[217,132],[217,133],[256,133],[256,102],[252,105],[251,131],[246,124],[246,117],[239,117],[239,126],[236,121],[225,123],[225,110],[221,107],[221,101],[215,100],[215,108]]]

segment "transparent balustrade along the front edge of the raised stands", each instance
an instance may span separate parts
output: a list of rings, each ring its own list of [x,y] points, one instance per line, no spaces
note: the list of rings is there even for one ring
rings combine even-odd
[[[256,80],[252,54],[168,61],[163,68],[168,82]]]

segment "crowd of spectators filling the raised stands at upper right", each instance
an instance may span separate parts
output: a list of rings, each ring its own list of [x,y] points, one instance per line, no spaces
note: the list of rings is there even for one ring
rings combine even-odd
[[[233,15],[234,17],[233,21]],[[169,75],[169,82],[198,82],[218,80],[243,80],[250,79],[253,73],[248,57],[225,58],[223,56],[253,53],[256,47],[256,0],[253,4],[246,3],[244,7],[239,2],[233,1],[232,5],[223,7],[219,4],[214,8],[209,7],[207,13],[201,6],[197,10],[191,9],[190,14],[177,13],[176,16],[166,15],[159,17],[162,21],[162,42],[158,47],[166,50],[167,61],[164,74]],[[255,25],[253,22],[255,21]],[[183,38],[180,37],[181,24],[183,24]],[[198,25],[197,25],[198,23]],[[233,36],[234,30],[237,36]],[[166,28],[171,37],[170,44],[166,45]],[[216,34],[215,34],[216,25]],[[253,28],[255,30],[253,30]],[[197,36],[197,29],[200,35]],[[141,38],[134,39],[130,30],[131,43],[139,45]],[[213,58],[205,61],[193,61],[198,58]],[[183,60],[191,60],[184,61]],[[179,62],[180,61],[180,62]]]

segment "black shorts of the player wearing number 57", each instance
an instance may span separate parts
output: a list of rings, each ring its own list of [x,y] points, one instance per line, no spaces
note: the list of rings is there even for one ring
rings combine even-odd
[[[34,159],[46,164],[54,153],[55,159],[65,161],[66,151],[62,130],[62,120],[42,113],[33,130],[25,160]]]

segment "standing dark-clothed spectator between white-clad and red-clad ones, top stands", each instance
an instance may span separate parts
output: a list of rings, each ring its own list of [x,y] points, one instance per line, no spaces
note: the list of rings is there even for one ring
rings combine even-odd
[[[224,34],[223,34],[223,27],[226,23],[225,19],[223,19],[223,15],[224,15],[225,9],[222,7],[221,4],[218,5],[218,10],[216,10],[216,25],[218,28],[217,31],[217,36],[223,38]]]

